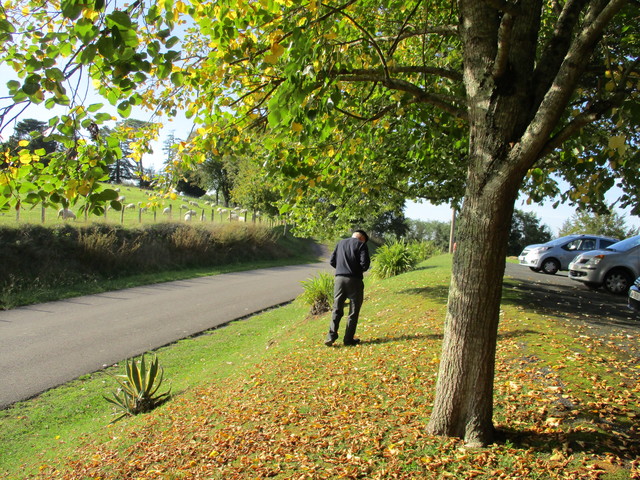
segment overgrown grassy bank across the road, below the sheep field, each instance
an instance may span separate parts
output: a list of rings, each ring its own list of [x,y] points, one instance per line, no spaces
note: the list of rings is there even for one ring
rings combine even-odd
[[[0,309],[317,259],[283,227],[241,222],[0,226],[0,245]]]

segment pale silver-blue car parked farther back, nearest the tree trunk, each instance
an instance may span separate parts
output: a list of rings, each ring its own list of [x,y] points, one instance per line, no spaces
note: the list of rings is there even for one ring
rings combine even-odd
[[[567,270],[576,255],[604,249],[617,241],[617,238],[601,235],[568,235],[547,243],[527,245],[518,257],[518,262],[534,272],[553,275],[558,270]]]

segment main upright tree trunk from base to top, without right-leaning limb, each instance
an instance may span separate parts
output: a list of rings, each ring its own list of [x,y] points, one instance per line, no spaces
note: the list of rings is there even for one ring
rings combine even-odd
[[[489,3],[460,2],[469,170],[428,427],[430,433],[462,437],[470,445],[490,443],[494,433],[493,378],[507,240],[519,186],[533,163],[514,158],[513,147],[530,120],[540,9],[538,0],[527,0],[523,13],[509,19]],[[508,46],[514,50],[508,53],[500,32],[511,22],[517,23],[517,33],[511,34]]]

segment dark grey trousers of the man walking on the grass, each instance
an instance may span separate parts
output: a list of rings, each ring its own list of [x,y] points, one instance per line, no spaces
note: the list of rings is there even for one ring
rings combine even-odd
[[[349,316],[344,332],[344,343],[353,343],[353,337],[358,327],[358,316],[364,300],[364,282],[358,277],[336,275],[333,289],[333,315],[329,327],[329,335],[335,340],[338,338],[338,327],[344,315],[344,305],[349,299]]]

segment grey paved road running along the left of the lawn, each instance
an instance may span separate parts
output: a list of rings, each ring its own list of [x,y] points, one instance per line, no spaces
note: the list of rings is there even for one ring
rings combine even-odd
[[[182,280],[0,311],[0,408],[280,305],[326,263]]]

